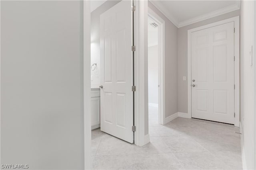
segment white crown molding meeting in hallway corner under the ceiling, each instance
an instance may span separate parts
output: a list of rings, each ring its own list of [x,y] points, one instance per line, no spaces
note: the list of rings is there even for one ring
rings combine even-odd
[[[216,16],[220,16],[222,14],[226,14],[228,12],[232,12],[232,11],[235,11],[235,10],[239,10],[240,9],[240,1],[238,1],[236,4],[234,5],[231,5],[231,6],[227,6],[225,8],[222,8],[222,9],[219,9],[219,10],[216,10],[216,11],[213,11],[213,12],[209,12],[207,14],[204,14],[204,15],[201,15],[201,16],[198,16],[198,17],[195,17],[195,18],[191,18],[189,20],[186,20],[186,21],[182,21],[182,22],[178,22],[176,20],[176,18],[170,14],[169,10],[166,9],[165,6],[163,6],[161,4],[161,2],[158,2],[158,1],[155,1],[155,0],[150,0],[150,2],[166,17],[168,18],[168,20],[170,20],[177,28],[180,28],[180,27],[184,27],[186,25],[190,25],[192,23],[196,23],[196,22],[199,22],[199,21],[203,21],[203,20],[207,20],[209,18],[213,18],[213,17],[216,17]]]

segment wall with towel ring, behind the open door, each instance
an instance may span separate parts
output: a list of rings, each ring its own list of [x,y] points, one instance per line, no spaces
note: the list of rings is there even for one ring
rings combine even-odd
[[[91,87],[100,86],[100,14],[110,9],[120,0],[108,0],[91,13],[91,65],[97,63],[97,68],[91,70]]]

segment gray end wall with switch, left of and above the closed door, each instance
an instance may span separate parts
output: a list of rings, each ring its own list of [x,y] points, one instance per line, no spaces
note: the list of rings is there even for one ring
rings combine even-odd
[[[239,16],[240,10],[178,28],[178,111],[188,113],[188,29]],[[186,81],[182,77],[186,76]]]

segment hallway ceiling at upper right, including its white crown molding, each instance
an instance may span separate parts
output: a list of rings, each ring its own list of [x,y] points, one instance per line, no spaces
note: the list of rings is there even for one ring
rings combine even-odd
[[[150,0],[176,27],[240,9],[240,0]]]

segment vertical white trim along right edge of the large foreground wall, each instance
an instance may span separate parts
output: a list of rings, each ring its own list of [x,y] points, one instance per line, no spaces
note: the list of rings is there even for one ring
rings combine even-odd
[[[84,44],[84,56],[83,56],[83,88],[84,88],[84,169],[92,169],[92,157],[91,157],[91,31],[90,31],[90,1],[83,1],[83,44]]]

